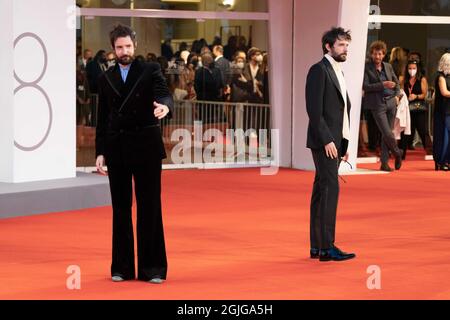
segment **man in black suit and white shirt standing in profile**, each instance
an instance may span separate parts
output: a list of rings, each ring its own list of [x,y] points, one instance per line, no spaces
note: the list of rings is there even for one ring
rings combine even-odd
[[[338,170],[347,160],[350,139],[350,99],[340,63],[347,60],[349,31],[333,28],[322,38],[325,57],[313,65],[306,81],[309,116],[307,147],[311,149],[316,176],[311,197],[311,258],[343,261],[355,257],[335,246]]]

